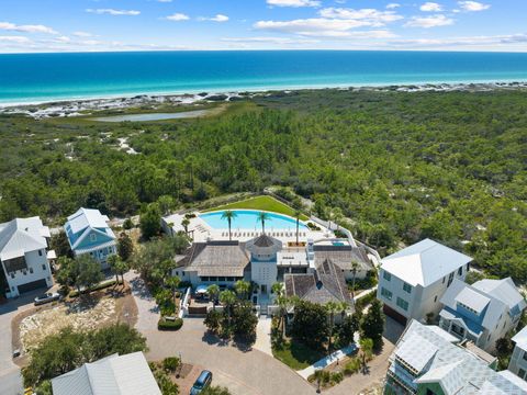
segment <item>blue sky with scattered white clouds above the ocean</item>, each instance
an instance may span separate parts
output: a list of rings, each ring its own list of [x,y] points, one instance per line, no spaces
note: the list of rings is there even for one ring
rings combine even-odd
[[[527,1],[0,1],[0,53],[143,49],[527,52]]]

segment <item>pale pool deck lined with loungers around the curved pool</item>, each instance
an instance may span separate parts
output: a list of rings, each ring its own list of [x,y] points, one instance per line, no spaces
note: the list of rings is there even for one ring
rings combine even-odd
[[[188,226],[188,230],[191,237],[193,237],[194,241],[208,241],[208,240],[228,240],[228,228],[225,225],[224,229],[214,229],[212,228],[205,221],[200,218],[199,212],[194,212],[194,218],[190,218],[190,224]],[[283,215],[283,214],[280,214]],[[285,215],[284,215],[285,216]],[[183,214],[172,214],[167,217],[164,217],[162,221],[166,226],[165,228],[171,228],[173,233],[178,233],[180,230],[184,230],[181,226],[181,222],[183,221]],[[171,226],[168,226],[171,224]],[[166,229],[167,230],[167,229]],[[251,238],[255,238],[261,235],[261,227],[255,226],[250,229],[243,229],[243,228],[235,228],[232,229],[232,239],[239,240],[239,241],[247,241]],[[266,226],[266,234],[268,236],[274,237],[282,242],[288,241],[296,241],[296,227],[292,226],[288,229],[279,229],[272,227],[270,224]],[[300,229],[299,232],[299,239],[301,241],[305,241],[307,239],[319,240],[326,238],[333,238],[335,235],[333,232],[328,230],[327,228],[322,228],[321,230],[311,230],[309,228]]]

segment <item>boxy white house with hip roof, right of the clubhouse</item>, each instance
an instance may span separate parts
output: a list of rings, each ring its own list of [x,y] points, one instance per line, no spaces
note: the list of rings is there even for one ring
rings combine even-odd
[[[464,280],[472,258],[424,239],[382,259],[377,297],[384,313],[406,325],[437,315],[440,298],[453,279]]]

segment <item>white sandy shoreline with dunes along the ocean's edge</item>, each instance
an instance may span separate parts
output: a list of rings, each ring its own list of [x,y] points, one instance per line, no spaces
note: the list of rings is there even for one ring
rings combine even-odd
[[[492,91],[507,89],[527,89],[526,81],[484,81],[484,82],[422,82],[422,83],[370,83],[370,84],[316,84],[253,87],[239,89],[202,89],[187,92],[143,92],[130,94],[110,94],[102,97],[81,97],[64,99],[43,99],[31,102],[0,102],[0,115],[25,114],[34,119],[85,116],[86,111],[124,110],[145,104],[192,105],[198,102],[229,102],[251,99],[258,95],[271,95],[276,92],[292,93],[307,90],[350,90],[378,92],[447,92],[447,91]]]

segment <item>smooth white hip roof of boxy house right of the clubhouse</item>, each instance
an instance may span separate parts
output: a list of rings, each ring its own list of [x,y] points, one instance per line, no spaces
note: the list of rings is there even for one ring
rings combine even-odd
[[[381,268],[411,285],[427,286],[470,261],[469,256],[424,239],[385,257]]]

